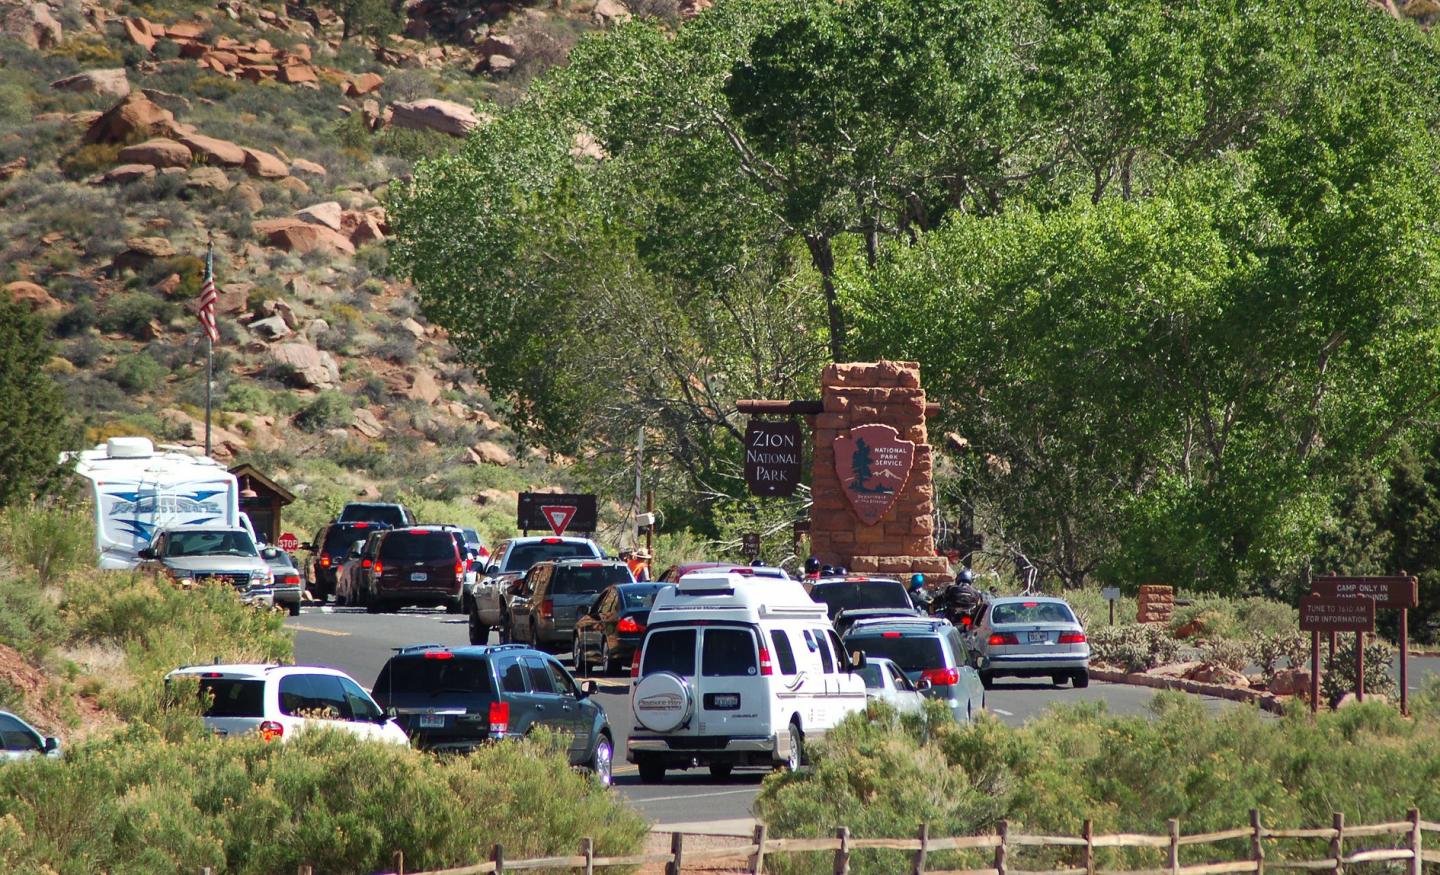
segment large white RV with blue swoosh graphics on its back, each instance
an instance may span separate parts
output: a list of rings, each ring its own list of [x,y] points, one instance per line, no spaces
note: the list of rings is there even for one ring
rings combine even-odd
[[[238,525],[253,538],[235,476],[209,456],[157,449],[147,438],[111,438],[68,458],[91,481],[101,568],[134,568],[161,528]]]

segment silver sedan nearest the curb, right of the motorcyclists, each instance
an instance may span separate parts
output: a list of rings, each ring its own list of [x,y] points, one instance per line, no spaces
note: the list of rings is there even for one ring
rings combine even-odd
[[[1090,643],[1064,599],[991,599],[968,643],[986,689],[1007,676],[1090,685]]]

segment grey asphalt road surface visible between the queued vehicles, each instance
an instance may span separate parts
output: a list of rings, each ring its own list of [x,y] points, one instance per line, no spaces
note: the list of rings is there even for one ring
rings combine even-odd
[[[465,617],[439,610],[405,610],[372,616],[363,609],[305,607],[287,625],[295,632],[295,661],[344,669],[369,686],[390,656],[390,649],[413,643],[459,646],[469,643]],[[1440,674],[1440,658],[1417,658],[1411,668],[1411,686],[1426,675]],[[739,770],[724,781],[713,781],[704,770],[671,773],[662,784],[641,784],[635,767],[624,763],[624,740],[631,730],[626,681],[596,678],[598,699],[605,705],[615,730],[619,792],[657,826],[684,826],[693,832],[749,833],[750,803],[759,792],[760,770]],[[1153,692],[1140,686],[1092,684],[1089,689],[1054,689],[1048,684],[1001,681],[986,701],[1002,721],[1020,725],[1053,704],[1103,701],[1116,714],[1140,714]],[[1218,711],[1231,702],[1204,698],[1205,707]]]

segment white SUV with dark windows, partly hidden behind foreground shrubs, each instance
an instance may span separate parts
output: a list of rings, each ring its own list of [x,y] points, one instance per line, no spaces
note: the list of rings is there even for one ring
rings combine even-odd
[[[259,733],[292,738],[307,727],[334,727],[361,738],[409,744],[354,679],[333,668],[310,665],[187,665],[166,675],[196,678],[209,704],[204,728],[216,735]]]

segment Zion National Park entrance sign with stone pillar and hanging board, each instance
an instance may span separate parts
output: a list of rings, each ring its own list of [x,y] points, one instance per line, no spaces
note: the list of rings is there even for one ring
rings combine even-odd
[[[804,416],[811,426],[811,553],[822,563],[863,574],[919,571],[927,581],[952,580],[949,563],[935,553],[933,459],[924,425],[939,404],[926,403],[919,364],[831,364],[821,374],[818,402],[749,400],[737,407],[759,417]],[[746,443],[746,479],[755,495],[780,494],[765,462],[799,463],[798,448],[793,458],[776,456],[775,449],[773,442]],[[753,469],[763,473],[752,478]]]

